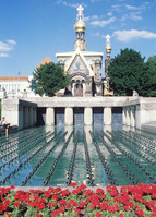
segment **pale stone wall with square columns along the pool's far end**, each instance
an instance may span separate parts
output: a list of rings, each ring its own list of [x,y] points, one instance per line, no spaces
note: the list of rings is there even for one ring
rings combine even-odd
[[[144,97],[39,97],[3,99],[2,116],[20,129],[36,124],[36,108],[46,109],[46,124],[55,124],[57,109],[64,109],[64,124],[74,124],[74,108],[84,109],[84,124],[93,124],[94,108],[101,108],[104,124],[112,124],[112,109],[122,108],[124,125],[141,129],[142,124],[156,121],[156,98]],[[28,117],[28,118],[27,118]]]

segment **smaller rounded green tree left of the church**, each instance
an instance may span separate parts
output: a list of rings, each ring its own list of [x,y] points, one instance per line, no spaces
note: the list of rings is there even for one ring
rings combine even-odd
[[[31,87],[36,94],[53,96],[56,92],[69,85],[70,77],[53,62],[41,64],[33,73]]]

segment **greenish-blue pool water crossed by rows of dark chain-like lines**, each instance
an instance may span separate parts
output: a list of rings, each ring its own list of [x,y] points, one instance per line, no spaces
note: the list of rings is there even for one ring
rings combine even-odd
[[[1,185],[156,184],[156,135],[120,125],[33,128],[0,138]]]

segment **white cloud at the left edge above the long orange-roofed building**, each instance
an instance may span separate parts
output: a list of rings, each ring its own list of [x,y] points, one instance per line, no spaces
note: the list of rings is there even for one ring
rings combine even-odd
[[[9,52],[14,49],[15,40],[0,41],[0,57],[9,57]]]

